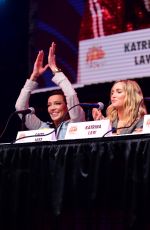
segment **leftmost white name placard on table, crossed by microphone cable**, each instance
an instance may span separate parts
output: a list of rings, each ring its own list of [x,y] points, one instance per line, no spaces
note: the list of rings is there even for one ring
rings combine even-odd
[[[56,141],[54,129],[37,129],[19,131],[17,133],[15,143],[27,143],[27,142],[41,142],[41,141]]]

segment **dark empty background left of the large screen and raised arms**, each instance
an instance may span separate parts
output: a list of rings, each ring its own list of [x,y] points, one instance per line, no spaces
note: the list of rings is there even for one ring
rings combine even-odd
[[[28,75],[28,0],[0,1],[0,133],[15,108],[15,100]],[[13,116],[1,142],[16,135],[19,119]]]

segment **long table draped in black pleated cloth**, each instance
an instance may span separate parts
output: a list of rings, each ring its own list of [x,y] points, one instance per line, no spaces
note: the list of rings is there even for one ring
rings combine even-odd
[[[150,229],[150,135],[0,144],[0,229]]]

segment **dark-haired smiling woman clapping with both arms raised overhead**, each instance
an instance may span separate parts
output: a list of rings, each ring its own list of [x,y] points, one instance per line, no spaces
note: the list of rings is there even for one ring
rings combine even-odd
[[[52,81],[58,85],[61,90],[54,91],[48,97],[48,113],[54,124],[55,130],[57,131],[57,139],[64,139],[68,123],[85,121],[85,113],[80,106],[75,106],[79,104],[77,93],[67,77],[56,66],[55,46],[56,45],[53,42],[49,48],[48,64],[44,67],[44,52],[39,51],[34,63],[33,72],[30,79],[27,79],[24,87],[22,88],[15,107],[17,111],[27,109],[29,107],[31,92],[38,86],[37,79],[49,67],[54,74]],[[19,116],[22,118],[22,115]],[[49,128],[49,124],[47,122],[41,121],[35,114],[31,113],[26,115],[25,125],[31,130]]]

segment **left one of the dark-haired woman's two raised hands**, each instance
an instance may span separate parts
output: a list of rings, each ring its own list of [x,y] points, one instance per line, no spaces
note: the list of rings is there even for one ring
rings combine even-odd
[[[36,60],[34,62],[33,72],[30,76],[32,81],[36,81],[39,76],[41,76],[46,69],[48,68],[48,64],[43,67],[43,59],[44,59],[44,52],[43,50],[39,51]]]

